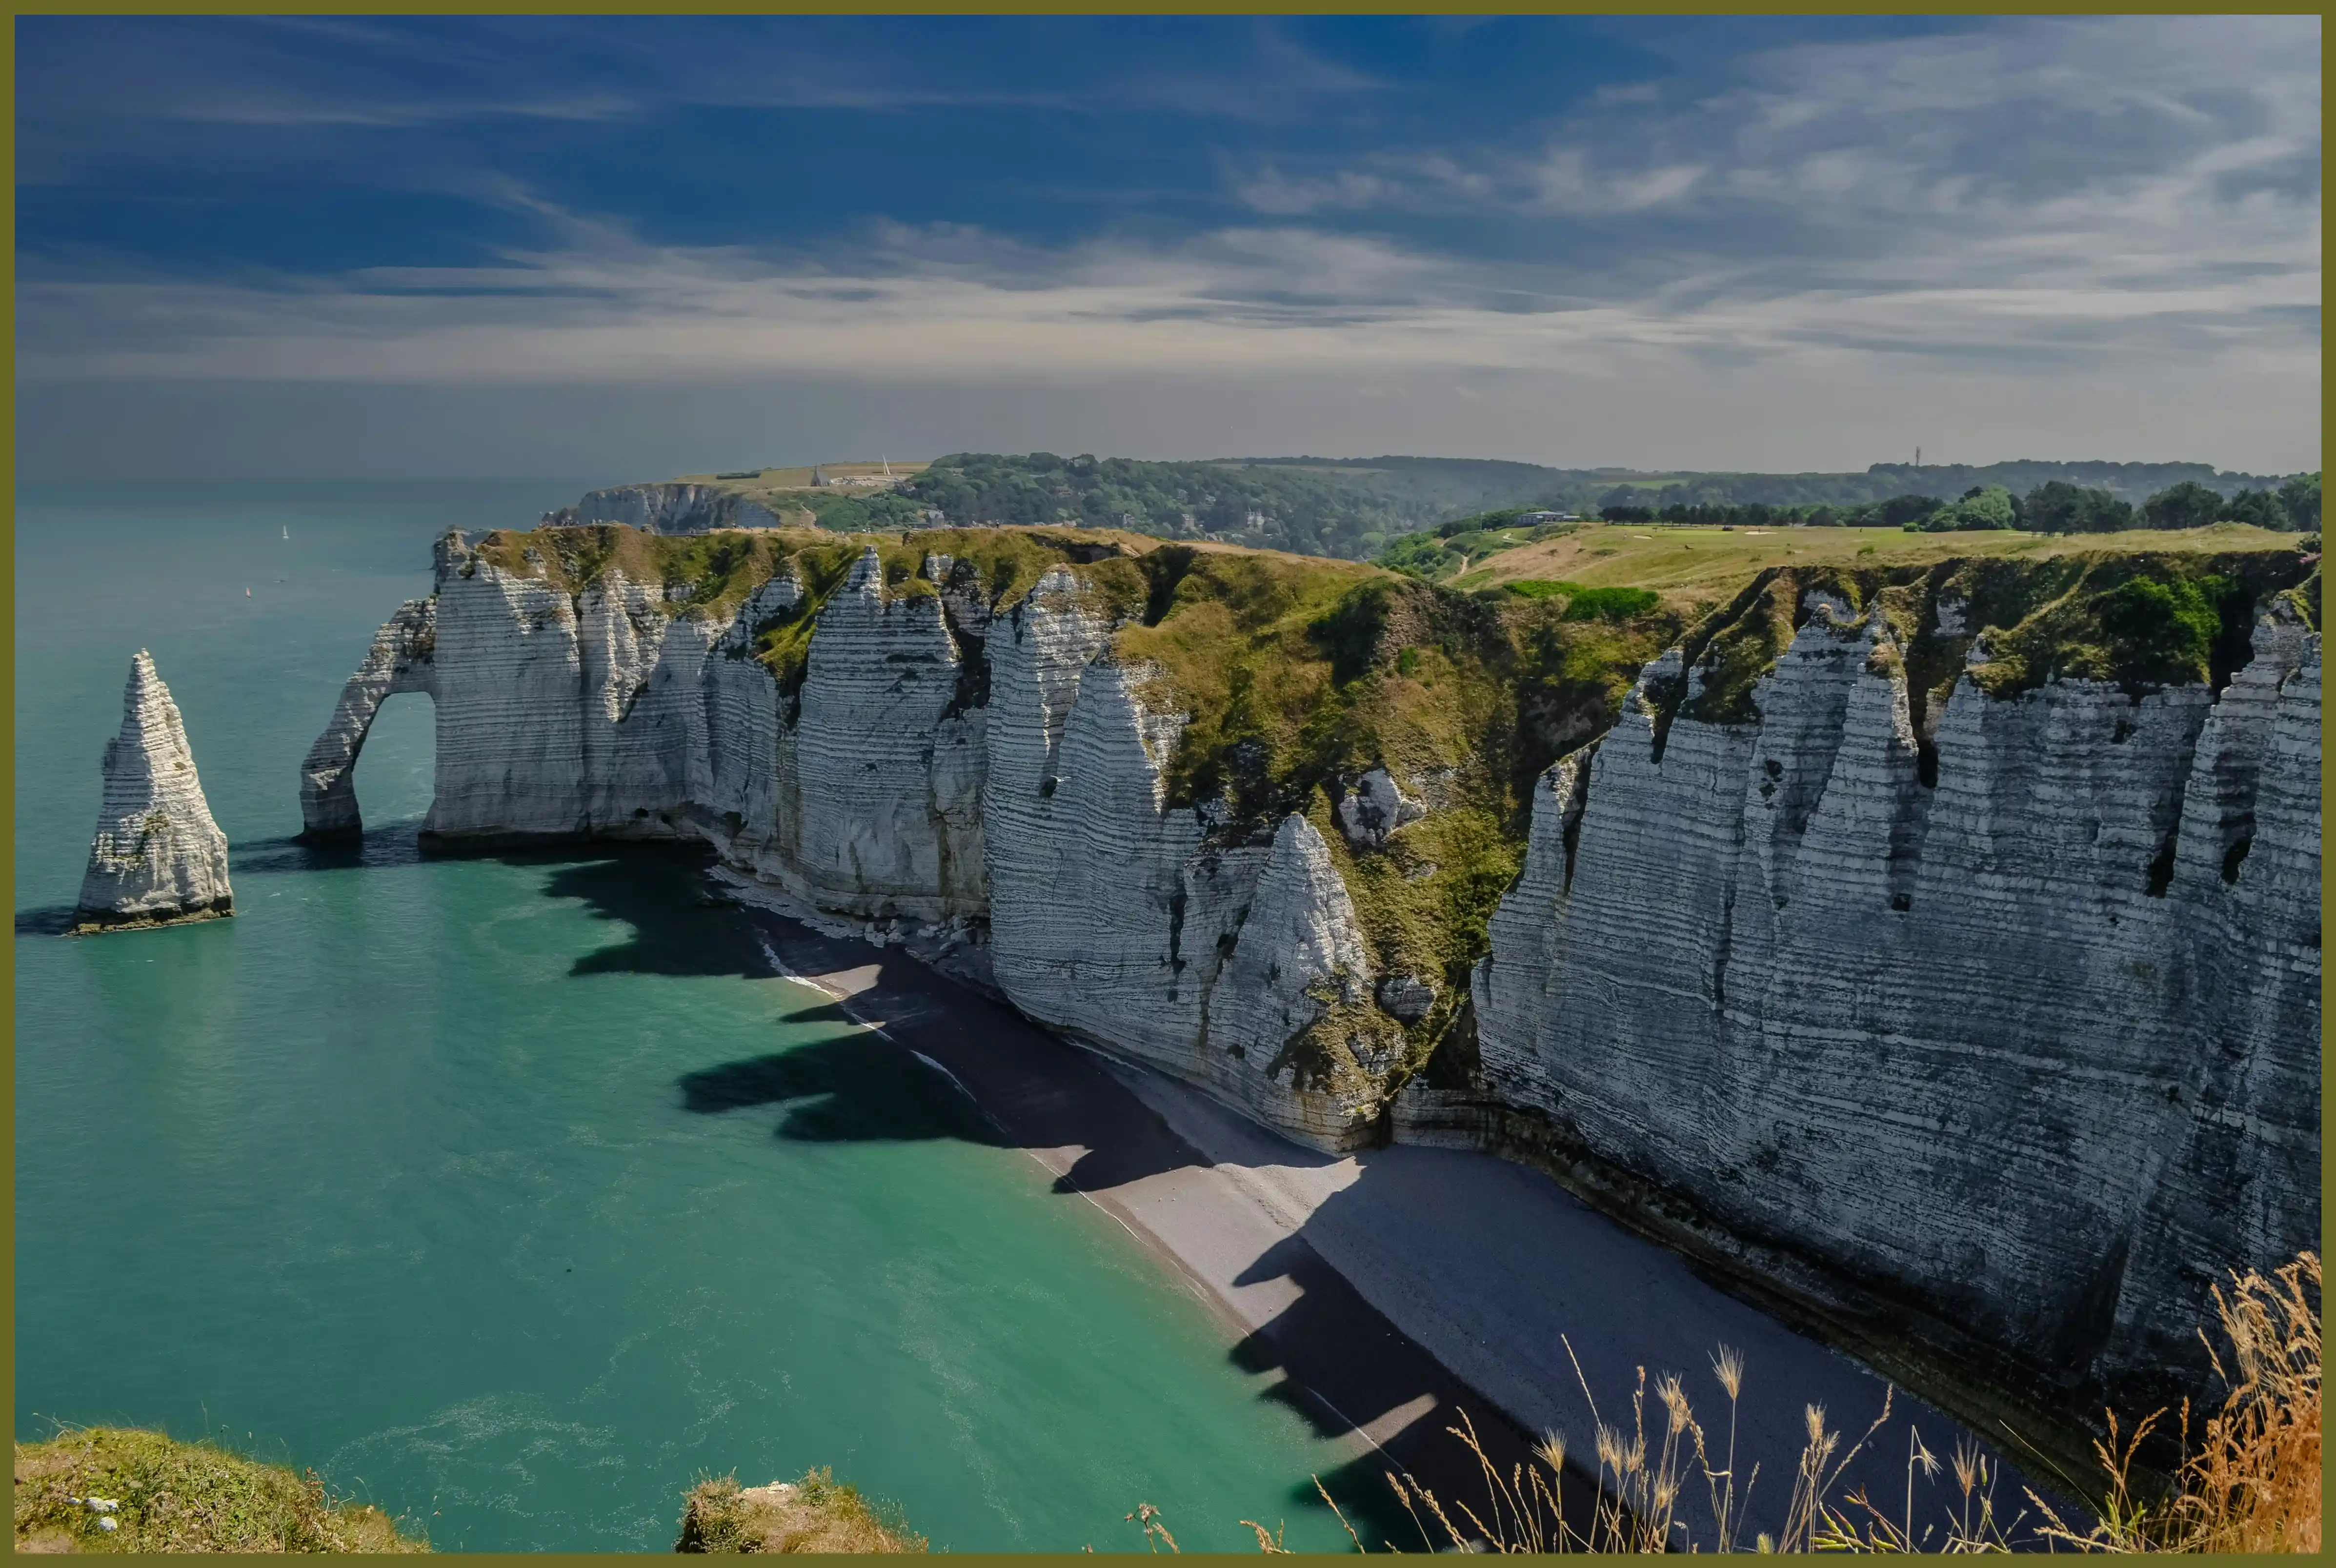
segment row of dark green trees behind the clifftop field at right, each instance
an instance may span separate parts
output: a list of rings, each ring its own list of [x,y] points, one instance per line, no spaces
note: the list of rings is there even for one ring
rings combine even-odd
[[[2105,488],[2046,479],[2014,495],[2000,484],[1974,484],[1955,500],[1892,495],[1857,507],[1782,507],[1766,502],[1710,505],[1673,500],[1642,505],[1624,491],[1598,509],[1610,523],[1701,523],[1719,528],[1918,528],[1955,533],[1969,528],[2025,528],[2032,533],[2119,533],[2123,528],[2205,528],[2208,523],[2254,523],[2282,533],[2320,528],[2320,474],[2294,474],[2275,488],[2243,488],[2236,495],[2182,479],[2144,498],[2140,507]]]

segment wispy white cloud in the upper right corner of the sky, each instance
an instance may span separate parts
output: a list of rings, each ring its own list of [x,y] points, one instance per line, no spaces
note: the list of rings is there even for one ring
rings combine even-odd
[[[1916,250],[2079,210],[2098,248],[2238,208],[2296,238],[2317,234],[2317,19],[2119,16],[1799,44],[1687,100],[1607,84],[1500,147],[1285,157],[1231,168],[1229,187],[1282,215],[1654,215],[1680,224],[1673,241],[1743,255],[1775,245],[1764,231]]]

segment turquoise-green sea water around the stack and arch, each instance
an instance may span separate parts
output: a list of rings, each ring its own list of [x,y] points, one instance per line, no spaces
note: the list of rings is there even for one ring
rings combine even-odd
[[[1140,1500],[1187,1549],[1346,1545],[1301,1503],[1343,1456],[1175,1274],[687,862],[418,860],[423,696],[364,750],[364,851],[287,841],[432,533],[582,488],[19,493],[16,1435],[220,1435],[467,1549],[666,1549],[698,1475],[808,1465],[937,1547],[1140,1549]],[[65,939],[138,647],[238,914]],[[780,1052],[794,1098],[687,1105]]]

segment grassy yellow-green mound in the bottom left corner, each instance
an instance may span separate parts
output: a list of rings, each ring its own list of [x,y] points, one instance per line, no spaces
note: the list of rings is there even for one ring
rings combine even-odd
[[[19,1552],[427,1552],[378,1507],[208,1442],[72,1428],[16,1444]]]

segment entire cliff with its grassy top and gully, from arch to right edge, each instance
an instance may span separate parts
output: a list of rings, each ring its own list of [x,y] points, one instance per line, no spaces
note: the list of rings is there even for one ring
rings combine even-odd
[[[1518,874],[1486,748],[1532,703],[1602,729],[1602,687],[1546,694],[1626,633],[1528,701],[1467,678],[1509,636],[1481,601],[1362,568],[1016,530],[661,568],[619,533],[442,542],[318,743],[311,832],[355,820],[332,780],[427,624],[439,846],[703,839],[1318,1147],[1530,1157],[2063,1407],[2205,1393],[2208,1285],[2317,1241],[2292,556],[1771,575],[1542,773]],[[2215,680],[2147,629],[2191,603],[2245,605]],[[1236,622],[1299,652],[1236,668]]]

